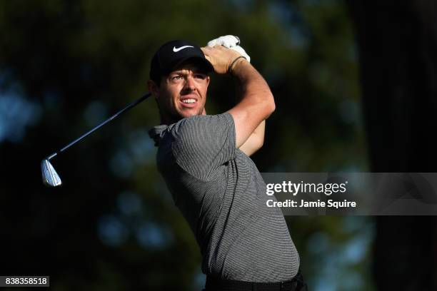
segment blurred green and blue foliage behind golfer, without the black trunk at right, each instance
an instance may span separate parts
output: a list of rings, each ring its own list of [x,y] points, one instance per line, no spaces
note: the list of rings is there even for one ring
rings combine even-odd
[[[49,274],[56,291],[201,288],[199,247],[146,134],[159,123],[153,100],[56,158],[63,188],[39,177],[45,155],[146,91],[151,57],[170,39],[240,36],[276,98],[253,156],[261,172],[368,169],[343,1],[4,0],[0,34],[4,274]],[[232,104],[231,79],[213,76],[207,112]],[[287,222],[311,290],[373,288],[371,218]]]

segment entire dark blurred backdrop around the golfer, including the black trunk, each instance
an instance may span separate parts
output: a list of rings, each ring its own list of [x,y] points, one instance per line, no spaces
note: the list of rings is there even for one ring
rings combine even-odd
[[[435,172],[433,1],[0,1],[0,275],[51,290],[200,290],[201,255],[156,172],[146,92],[170,39],[240,36],[276,98],[261,172]],[[233,104],[213,76],[208,113]],[[287,217],[311,290],[437,290],[435,217]],[[11,288],[10,290],[18,290]]]

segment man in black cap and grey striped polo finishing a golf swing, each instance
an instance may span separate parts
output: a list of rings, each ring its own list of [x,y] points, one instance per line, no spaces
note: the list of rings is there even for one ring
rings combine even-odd
[[[211,71],[238,83],[239,101],[223,114],[206,115]],[[266,81],[237,51],[187,41],[161,46],[150,77],[161,116],[149,132],[157,165],[199,243],[206,290],[301,290],[286,222],[266,207],[266,184],[248,158],[275,109]]]

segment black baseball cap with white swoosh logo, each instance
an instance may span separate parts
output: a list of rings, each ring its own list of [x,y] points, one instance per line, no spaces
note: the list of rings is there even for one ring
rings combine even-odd
[[[205,58],[204,52],[189,41],[169,41],[156,51],[150,65],[151,80],[158,81],[183,61],[194,58],[205,66],[207,72],[214,71],[214,67]]]

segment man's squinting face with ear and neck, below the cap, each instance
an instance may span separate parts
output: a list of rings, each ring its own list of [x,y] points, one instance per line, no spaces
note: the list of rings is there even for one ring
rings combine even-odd
[[[149,85],[149,90],[158,101],[163,121],[174,123],[182,118],[206,114],[209,80],[209,76],[200,66],[183,63],[168,76],[162,77],[159,87]]]

